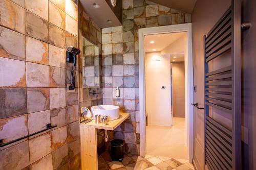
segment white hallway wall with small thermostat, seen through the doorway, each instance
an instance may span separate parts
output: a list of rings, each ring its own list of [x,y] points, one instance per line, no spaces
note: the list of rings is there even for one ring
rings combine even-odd
[[[159,56],[160,61],[153,61],[155,56]],[[171,126],[169,56],[146,53],[145,92],[148,125]]]

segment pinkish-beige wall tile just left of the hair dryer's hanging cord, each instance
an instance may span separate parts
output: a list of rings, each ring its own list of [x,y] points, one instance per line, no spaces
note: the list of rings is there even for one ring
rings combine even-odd
[[[49,87],[66,87],[66,69],[49,67]]]

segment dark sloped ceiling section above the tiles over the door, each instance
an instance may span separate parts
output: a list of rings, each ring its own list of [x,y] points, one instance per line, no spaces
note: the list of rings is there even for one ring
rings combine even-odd
[[[183,12],[192,13],[197,0],[150,0],[169,8],[174,8]]]

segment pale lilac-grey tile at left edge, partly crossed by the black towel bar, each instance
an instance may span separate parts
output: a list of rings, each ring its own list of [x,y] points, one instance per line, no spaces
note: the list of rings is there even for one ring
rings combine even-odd
[[[15,116],[0,120],[0,136],[4,143],[26,135],[28,135],[27,115]],[[8,147],[14,144],[17,144],[17,142],[8,145]],[[0,150],[5,148],[7,147],[0,148]]]

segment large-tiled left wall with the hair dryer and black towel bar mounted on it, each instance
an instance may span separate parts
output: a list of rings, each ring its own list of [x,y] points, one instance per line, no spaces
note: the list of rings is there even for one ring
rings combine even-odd
[[[0,1],[0,169],[79,169],[78,89],[66,91],[77,46],[78,10],[71,0]]]

